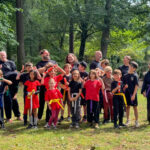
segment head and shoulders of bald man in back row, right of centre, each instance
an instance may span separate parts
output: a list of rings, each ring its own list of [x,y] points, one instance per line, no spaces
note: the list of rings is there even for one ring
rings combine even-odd
[[[90,64],[90,70],[96,69],[96,68],[102,69],[101,64],[100,64],[101,59],[102,59],[102,52],[96,51],[95,52],[95,60],[93,60],[92,63]]]

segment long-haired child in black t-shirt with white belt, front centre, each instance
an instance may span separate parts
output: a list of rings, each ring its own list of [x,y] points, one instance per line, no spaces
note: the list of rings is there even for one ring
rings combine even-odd
[[[80,82],[80,73],[78,70],[72,71],[72,81],[69,84],[68,97],[71,101],[72,124],[70,127],[79,128],[81,119],[80,94],[82,92],[82,84]]]

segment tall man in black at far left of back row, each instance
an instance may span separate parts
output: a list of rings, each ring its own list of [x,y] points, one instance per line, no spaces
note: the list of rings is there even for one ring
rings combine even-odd
[[[9,86],[9,90],[7,89],[4,94],[4,107],[6,118],[8,119],[8,121],[11,122],[12,109],[15,117],[21,120],[19,105],[16,97],[18,92],[18,82],[16,81],[16,65],[13,61],[7,59],[7,54],[5,51],[0,52],[0,69],[3,71],[4,77],[13,82],[13,84]]]

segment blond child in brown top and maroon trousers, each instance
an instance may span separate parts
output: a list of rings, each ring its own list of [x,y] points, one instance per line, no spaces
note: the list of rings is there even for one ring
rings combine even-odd
[[[110,111],[111,115],[111,122],[113,122],[113,95],[111,93],[111,83],[113,82],[113,76],[112,76],[112,68],[110,66],[107,66],[104,69],[105,76],[103,77],[103,82],[105,85],[105,99],[104,101],[104,121],[103,123],[108,122],[108,112]]]

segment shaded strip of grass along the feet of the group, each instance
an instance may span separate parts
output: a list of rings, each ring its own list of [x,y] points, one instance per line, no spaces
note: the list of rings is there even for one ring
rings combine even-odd
[[[82,123],[79,129],[69,128],[69,122],[63,122],[61,125],[58,125],[58,129],[44,129],[44,120],[41,120],[38,129],[26,129],[27,126],[23,125],[23,122],[14,121],[12,124],[6,124],[6,129],[4,131],[0,131],[3,136],[15,136],[17,134],[44,134],[45,132],[59,134],[69,134],[70,133],[79,133],[85,136],[91,136],[93,134],[102,134],[102,133],[116,133],[122,134],[124,132],[142,132],[143,130],[149,127],[148,124],[144,123],[140,125],[140,127],[135,128],[134,126],[124,127],[121,129],[114,129],[113,124],[109,123],[106,125],[100,125],[99,129],[94,129],[89,127],[87,123]]]

